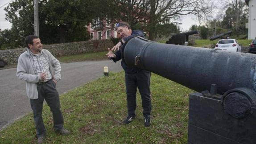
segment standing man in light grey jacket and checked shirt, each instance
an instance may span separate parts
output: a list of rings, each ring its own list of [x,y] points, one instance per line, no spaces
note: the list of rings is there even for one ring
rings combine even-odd
[[[70,133],[64,128],[59,95],[56,90],[56,84],[61,79],[61,66],[48,50],[42,49],[39,37],[29,35],[25,38],[25,44],[28,49],[19,57],[17,77],[26,82],[26,91],[36,125],[37,142],[41,144],[46,135],[42,119],[44,99],[53,113],[55,132],[61,135]]]

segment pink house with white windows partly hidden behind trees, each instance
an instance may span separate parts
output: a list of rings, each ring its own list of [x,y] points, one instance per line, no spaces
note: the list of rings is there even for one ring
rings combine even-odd
[[[91,40],[101,40],[108,39],[111,37],[117,37],[117,33],[114,27],[108,25],[105,20],[99,20],[99,18],[93,20],[93,22],[87,26],[87,30],[90,33]]]

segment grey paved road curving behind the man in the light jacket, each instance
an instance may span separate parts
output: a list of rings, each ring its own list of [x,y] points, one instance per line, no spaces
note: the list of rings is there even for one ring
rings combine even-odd
[[[122,70],[120,62],[90,61],[62,63],[62,79],[57,84],[59,94],[72,90],[103,76],[103,67],[109,72]],[[0,70],[0,130],[31,111],[26,95],[26,84],[16,77],[16,68]]]

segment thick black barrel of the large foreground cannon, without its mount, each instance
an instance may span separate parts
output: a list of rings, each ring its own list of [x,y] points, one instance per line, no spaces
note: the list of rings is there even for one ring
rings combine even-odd
[[[256,91],[256,55],[220,49],[161,44],[141,37],[129,40],[122,50],[124,62],[168,78],[198,92],[217,93],[245,87]]]

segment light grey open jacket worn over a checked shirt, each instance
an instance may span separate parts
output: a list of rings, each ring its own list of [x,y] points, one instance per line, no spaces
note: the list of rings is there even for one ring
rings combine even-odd
[[[61,79],[61,65],[48,50],[42,49],[42,53],[48,62],[52,78],[57,81]],[[38,99],[37,82],[41,80],[40,74],[35,74],[33,70],[33,58],[29,49],[22,53],[18,60],[17,77],[26,82],[26,90],[29,99]]]

